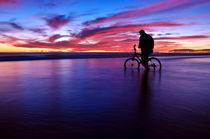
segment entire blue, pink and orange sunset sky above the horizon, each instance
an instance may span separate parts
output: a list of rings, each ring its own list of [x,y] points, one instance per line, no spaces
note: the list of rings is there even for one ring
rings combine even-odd
[[[0,52],[210,52],[210,0],[0,0]]]

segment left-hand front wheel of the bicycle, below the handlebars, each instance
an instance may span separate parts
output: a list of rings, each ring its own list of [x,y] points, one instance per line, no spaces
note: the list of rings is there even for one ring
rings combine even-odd
[[[139,67],[140,67],[140,63],[136,58],[128,58],[124,62],[125,69],[127,69],[127,68],[128,69],[134,69],[134,68],[139,69]]]

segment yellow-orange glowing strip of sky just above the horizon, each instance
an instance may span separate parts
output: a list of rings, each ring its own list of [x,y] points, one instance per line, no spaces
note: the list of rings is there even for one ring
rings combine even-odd
[[[159,46],[158,43],[156,44],[154,48],[154,53],[159,52],[159,53],[173,53],[173,52],[185,52],[186,53],[192,52],[198,52],[198,53],[209,53],[210,51],[208,50],[208,46],[206,44],[197,44],[197,43],[192,43],[191,46],[187,44],[182,44],[181,47],[177,47],[174,49],[169,48],[169,47],[164,47],[164,46]],[[199,46],[200,45],[200,46]],[[201,45],[204,45],[206,47],[202,47]],[[176,50],[179,49],[179,50]],[[187,50],[191,49],[191,50]],[[174,51],[175,50],[175,51]],[[10,44],[1,44],[0,43],[0,53],[48,53],[48,52],[133,52],[132,46],[129,46],[128,48],[125,49],[110,49],[110,50],[76,50],[73,48],[63,48],[63,49],[52,49],[52,48],[23,48],[23,47],[15,47]],[[137,49],[137,52],[141,52],[140,49]]]

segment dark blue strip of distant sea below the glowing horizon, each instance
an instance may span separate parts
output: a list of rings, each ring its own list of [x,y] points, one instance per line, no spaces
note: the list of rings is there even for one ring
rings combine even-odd
[[[0,61],[87,59],[131,57],[132,52],[74,52],[74,53],[0,53]],[[210,53],[153,53],[152,56],[204,56]]]

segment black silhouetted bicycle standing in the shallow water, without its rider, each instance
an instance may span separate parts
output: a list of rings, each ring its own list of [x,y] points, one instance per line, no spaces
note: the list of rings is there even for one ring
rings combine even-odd
[[[133,57],[128,58],[124,62],[124,68],[137,68],[140,69],[140,65],[142,64],[141,54],[136,52],[136,45],[134,45],[134,54]],[[161,71],[161,63],[160,60],[156,57],[149,57],[148,59],[148,68]]]

